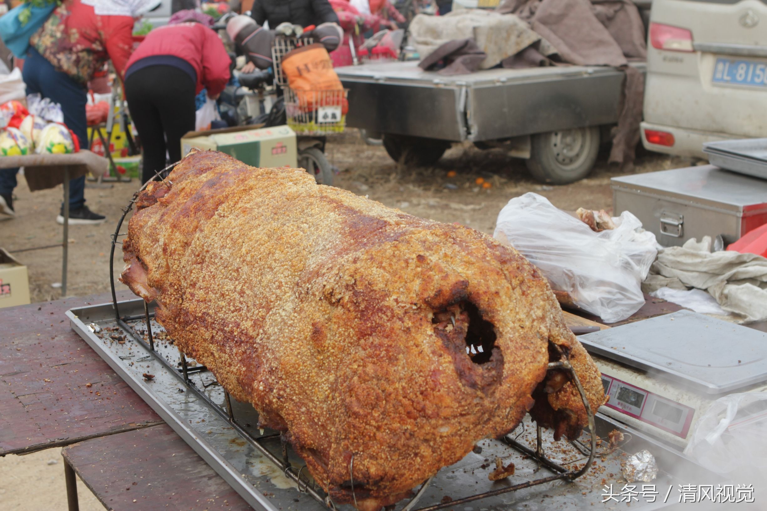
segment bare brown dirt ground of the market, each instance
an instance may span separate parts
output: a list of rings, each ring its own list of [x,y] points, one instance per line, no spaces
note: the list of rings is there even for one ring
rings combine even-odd
[[[545,186],[529,176],[523,160],[506,156],[502,150],[480,151],[453,147],[429,169],[402,168],[383,147],[368,146],[352,131],[328,143],[328,159],[340,173],[335,186],[367,195],[416,216],[441,222],[457,222],[492,234],[499,210],[515,196],[535,192],[562,209],[612,208],[610,178],[620,175],[607,165],[601,154],[588,179],[567,186]],[[641,151],[636,172],[672,169],[690,164],[688,160]],[[456,176],[448,177],[455,170]],[[482,188],[476,180],[491,184]],[[108,292],[110,235],[114,233],[120,209],[126,206],[140,183],[116,183],[108,188],[88,187],[87,204],[107,216],[100,226],[71,226],[67,295]],[[61,201],[61,186],[31,193],[25,181],[15,190],[16,218],[0,222],[0,246],[28,266],[32,302],[59,298],[61,249],[25,250],[61,243],[61,226],[55,223]],[[125,226],[121,229],[125,231]],[[118,246],[119,248],[119,246]],[[120,251],[114,268],[122,267]],[[116,282],[120,286],[120,282]],[[48,465],[49,460],[58,463]],[[47,450],[25,457],[0,458],[0,502],[2,509],[66,509],[60,450]],[[45,491],[41,492],[44,487]],[[101,509],[96,499],[80,484],[81,509]]]

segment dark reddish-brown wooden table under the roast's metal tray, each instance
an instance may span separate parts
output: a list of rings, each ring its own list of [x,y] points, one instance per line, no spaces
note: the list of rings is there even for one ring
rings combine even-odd
[[[70,511],[78,509],[75,473],[114,511],[251,509],[64,317],[110,301],[105,294],[0,308],[0,457],[67,446]],[[565,320],[606,328],[568,312]]]

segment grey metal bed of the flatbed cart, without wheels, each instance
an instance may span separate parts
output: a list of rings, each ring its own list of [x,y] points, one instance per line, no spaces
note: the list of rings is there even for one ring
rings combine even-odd
[[[645,64],[631,64],[644,72]],[[443,76],[418,62],[336,68],[347,125],[460,142],[614,124],[624,72],[605,66],[489,69]]]

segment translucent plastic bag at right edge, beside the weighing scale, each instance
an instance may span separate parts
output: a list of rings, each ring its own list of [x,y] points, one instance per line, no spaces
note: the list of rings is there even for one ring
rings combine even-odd
[[[762,476],[767,473],[767,392],[729,394],[700,417],[686,456],[716,473]]]

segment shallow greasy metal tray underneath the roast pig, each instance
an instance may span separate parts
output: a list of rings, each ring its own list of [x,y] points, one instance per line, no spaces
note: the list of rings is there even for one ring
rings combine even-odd
[[[163,420],[179,434],[219,476],[229,483],[252,507],[262,511],[278,509],[301,509],[321,511],[328,509],[308,491],[318,490],[306,477],[304,463],[289,447],[284,454],[288,457],[293,473],[303,474],[302,484],[285,476],[269,456],[255,447],[253,437],[260,437],[263,445],[271,445],[273,457],[281,458],[281,443],[275,431],[258,430],[255,427],[258,414],[250,404],[232,401],[231,410],[236,422],[228,420],[225,393],[216,378],[194,361],[187,364],[187,373],[192,384],[187,386],[179,366],[181,358],[167,338],[163,328],[151,321],[155,351],[151,351],[144,339],[146,322],[144,304],[140,299],[119,302],[120,321],[115,318],[111,303],[74,308],[67,312],[71,327],[91,346],[110,367],[133,388],[140,397],[150,404]],[[163,358],[163,360],[160,360]],[[146,379],[145,374],[153,375]],[[596,416],[596,433],[607,438],[612,430],[625,435],[624,443],[611,453],[602,449],[601,443],[594,461],[594,469],[574,482],[558,480],[540,486],[516,490],[512,493],[490,496],[469,503],[469,506],[453,506],[459,499],[478,493],[499,490],[504,487],[525,483],[527,480],[555,474],[554,470],[537,463],[532,457],[523,456],[512,450],[502,440],[482,440],[478,443],[481,452],[471,452],[463,460],[447,466],[434,477],[414,507],[406,508],[407,501],[397,504],[397,511],[433,511],[434,509],[473,509],[479,511],[530,511],[531,509],[596,509],[605,508],[604,486],[613,484],[617,492],[625,484],[621,476],[621,463],[626,457],[640,450],[650,450],[660,467],[657,480],[653,483],[663,491],[673,486],[668,503],[648,503],[640,499],[631,504],[648,509],[673,509],[681,506],[676,499],[676,485],[720,483],[720,478],[690,462],[671,447],[617,423],[601,414]],[[535,449],[536,428],[529,420],[509,435],[517,437],[520,443]],[[551,434],[545,432],[543,448],[550,460],[563,466],[584,463],[588,458],[589,435],[584,433],[579,443],[565,441],[554,443]],[[270,444],[271,443],[271,444]],[[479,449],[478,449],[479,450]],[[515,474],[508,480],[491,482],[489,472],[494,468],[496,457],[504,464],[515,463]],[[682,475],[683,474],[683,475]],[[300,479],[300,476],[299,476]],[[641,483],[638,483],[641,485]],[[298,486],[301,486],[299,490]],[[321,491],[321,490],[318,490]],[[663,495],[663,492],[661,492]],[[617,504],[616,504],[617,506]],[[621,506],[625,506],[621,503]],[[353,511],[352,506],[337,505],[331,509]],[[617,509],[617,508],[615,508]],[[622,509],[622,508],[621,508]]]

